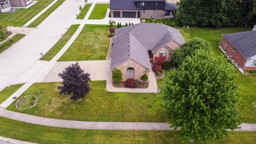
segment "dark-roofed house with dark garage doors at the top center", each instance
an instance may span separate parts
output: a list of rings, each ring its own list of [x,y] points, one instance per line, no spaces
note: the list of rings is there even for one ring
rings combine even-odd
[[[177,10],[166,0],[110,0],[111,18],[175,18]]]

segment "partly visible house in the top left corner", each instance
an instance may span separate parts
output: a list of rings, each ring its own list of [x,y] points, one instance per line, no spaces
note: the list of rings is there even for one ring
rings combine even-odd
[[[9,12],[11,7],[26,7],[31,0],[0,0],[0,12]]]

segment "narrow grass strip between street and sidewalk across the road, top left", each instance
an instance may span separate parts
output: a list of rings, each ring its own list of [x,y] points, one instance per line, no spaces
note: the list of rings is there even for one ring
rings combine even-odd
[[[56,10],[65,0],[58,0],[47,11],[40,15],[35,21],[28,25],[29,28],[37,27],[42,21],[44,21],[54,10]]]

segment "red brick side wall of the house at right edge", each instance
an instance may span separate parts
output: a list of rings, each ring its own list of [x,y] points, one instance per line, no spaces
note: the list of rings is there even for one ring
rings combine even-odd
[[[221,45],[222,47],[227,45],[227,49],[226,49],[227,53],[231,55],[232,59],[238,62],[241,67],[244,66],[246,59],[237,50],[233,51],[233,46],[227,41],[226,38],[223,37]]]

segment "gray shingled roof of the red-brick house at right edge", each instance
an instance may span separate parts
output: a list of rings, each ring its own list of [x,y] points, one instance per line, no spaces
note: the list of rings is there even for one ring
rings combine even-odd
[[[249,59],[256,55],[256,31],[223,35],[244,58]]]

